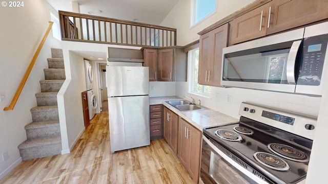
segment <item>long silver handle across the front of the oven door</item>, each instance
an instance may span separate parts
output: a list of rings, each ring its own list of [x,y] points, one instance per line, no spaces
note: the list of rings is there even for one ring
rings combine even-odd
[[[217,154],[219,154],[223,159],[225,159],[228,163],[230,163],[233,167],[238,169],[240,172],[252,178],[254,181],[258,182],[259,184],[269,184],[268,182],[265,182],[264,180],[260,179],[259,177],[257,177],[256,175],[254,175],[253,173],[251,173],[250,171],[248,171],[247,169],[243,168],[238,163],[236,163],[235,160],[224,154],[221,150],[219,150],[216,146],[214,146],[205,135],[202,135],[202,138],[203,141],[205,141]]]

